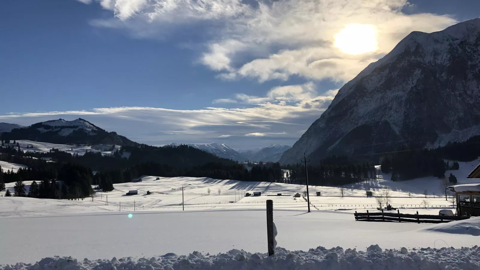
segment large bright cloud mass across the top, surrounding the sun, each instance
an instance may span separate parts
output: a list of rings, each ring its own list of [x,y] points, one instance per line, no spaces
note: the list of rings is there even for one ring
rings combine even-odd
[[[159,35],[155,28],[166,25],[216,22],[205,30],[210,40],[199,61],[220,72],[220,78],[261,82],[293,75],[345,82],[411,31],[438,31],[456,23],[444,15],[405,14],[408,0],[259,0],[252,5],[242,0],[96,1],[118,22],[96,20],[95,25],[126,27],[137,37]],[[334,37],[349,24],[373,25],[377,51],[348,55],[335,48]]]

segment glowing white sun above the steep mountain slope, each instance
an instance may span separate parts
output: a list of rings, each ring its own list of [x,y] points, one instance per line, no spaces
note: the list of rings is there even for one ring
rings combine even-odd
[[[346,25],[334,38],[334,46],[344,53],[362,54],[377,50],[377,30],[373,25]]]

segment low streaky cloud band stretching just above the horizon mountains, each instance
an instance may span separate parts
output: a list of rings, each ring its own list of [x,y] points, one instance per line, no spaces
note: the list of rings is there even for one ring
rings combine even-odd
[[[292,144],[328,107],[336,90],[316,96],[311,83],[275,87],[266,101],[247,108],[209,107],[172,110],[153,107],[114,107],[80,111],[24,112],[0,115],[0,122],[32,123],[84,118],[108,131],[151,145],[194,143],[221,138],[231,147]],[[285,97],[288,97],[286,101]],[[257,97],[261,99],[260,97]]]

